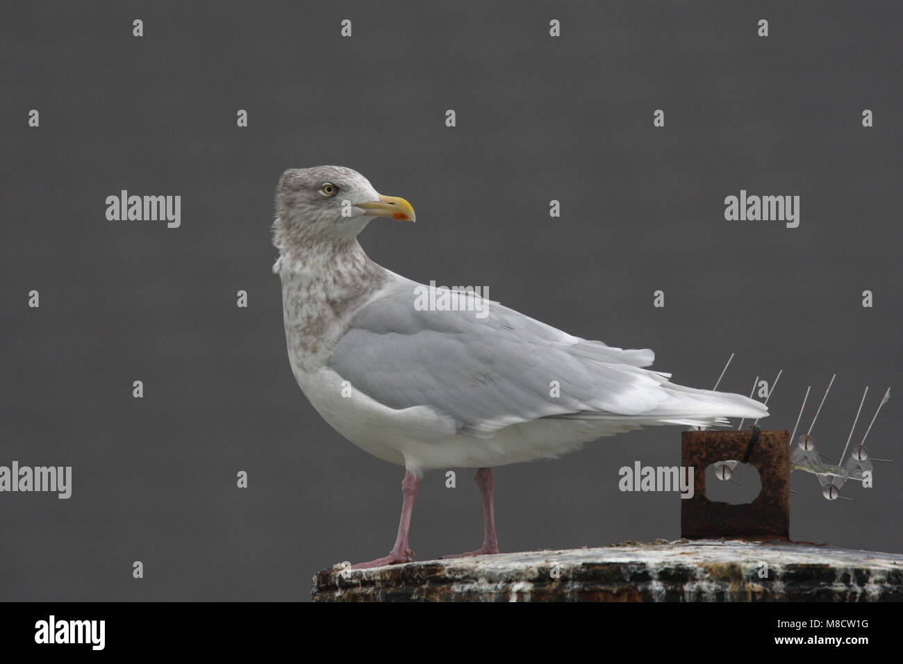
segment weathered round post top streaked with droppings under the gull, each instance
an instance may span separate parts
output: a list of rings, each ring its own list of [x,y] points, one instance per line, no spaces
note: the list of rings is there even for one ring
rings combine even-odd
[[[315,602],[885,602],[903,555],[783,541],[656,540],[319,572]]]

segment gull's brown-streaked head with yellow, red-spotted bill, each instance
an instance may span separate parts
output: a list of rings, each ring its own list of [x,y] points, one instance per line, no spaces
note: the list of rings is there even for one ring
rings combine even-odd
[[[275,225],[295,241],[348,241],[374,217],[414,221],[411,203],[380,194],[343,166],[288,169],[276,187],[275,208]]]

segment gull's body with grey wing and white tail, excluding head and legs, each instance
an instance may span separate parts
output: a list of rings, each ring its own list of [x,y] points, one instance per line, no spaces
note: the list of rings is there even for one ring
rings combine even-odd
[[[345,274],[366,263],[379,284],[339,312],[323,303],[344,297],[333,290],[343,285],[311,275],[310,264],[278,268],[294,377],[341,435],[414,472],[548,459],[640,426],[767,414],[747,397],[643,369],[652,351],[579,339],[500,304],[484,304],[482,319],[418,311],[421,285],[369,262],[359,245],[335,259]],[[313,346],[312,319],[323,325]]]

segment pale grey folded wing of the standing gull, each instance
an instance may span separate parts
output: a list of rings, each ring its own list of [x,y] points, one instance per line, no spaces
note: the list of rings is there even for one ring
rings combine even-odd
[[[652,351],[578,339],[496,303],[484,318],[420,311],[416,286],[399,278],[359,309],[328,362],[388,407],[432,407],[462,433],[491,435],[540,417],[638,416],[668,398],[667,375],[641,369]]]

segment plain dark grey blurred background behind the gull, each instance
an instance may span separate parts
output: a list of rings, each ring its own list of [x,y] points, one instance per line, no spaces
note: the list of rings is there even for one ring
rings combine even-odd
[[[652,348],[696,387],[731,352],[723,389],[783,368],[770,428],[811,384],[807,424],[836,371],[814,432],[834,461],[870,385],[859,439],[903,369],[899,6],[442,5],[7,11],[0,463],[71,465],[74,487],[0,494],[0,598],[303,599],[317,569],[391,547],[402,469],[333,432],[289,369],[270,224],[291,166],[347,165],[411,201],[415,225],[361,237],[405,276]],[[107,221],[121,189],[182,195],[182,228]],[[740,189],[801,196],[799,228],[724,220]],[[903,550],[899,397],[870,434],[898,463],[853,502],[795,473],[794,538]],[[654,428],[498,469],[501,547],[679,537],[675,494],[618,490],[620,466],[679,463],[679,444]],[[426,475],[418,559],[479,546],[470,474]]]

